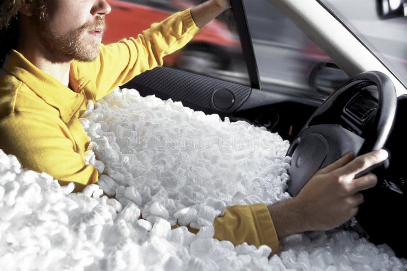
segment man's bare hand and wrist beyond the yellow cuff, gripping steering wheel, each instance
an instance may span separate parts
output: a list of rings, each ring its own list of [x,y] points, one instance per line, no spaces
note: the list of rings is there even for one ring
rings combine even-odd
[[[357,179],[355,176],[387,157],[385,150],[355,159],[348,153],[317,171],[296,197],[269,206],[278,238],[309,230],[329,230],[350,220],[363,202],[359,191],[377,183],[373,174]]]

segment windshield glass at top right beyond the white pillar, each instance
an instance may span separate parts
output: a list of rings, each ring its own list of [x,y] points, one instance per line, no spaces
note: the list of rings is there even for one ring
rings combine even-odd
[[[375,0],[321,0],[407,85],[407,17],[381,19]]]

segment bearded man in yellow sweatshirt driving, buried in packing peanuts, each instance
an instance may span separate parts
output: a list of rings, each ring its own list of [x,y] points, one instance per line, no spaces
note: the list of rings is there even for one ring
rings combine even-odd
[[[77,191],[96,183],[98,171],[84,158],[89,138],[78,121],[88,101],[162,65],[165,55],[228,8],[229,0],[208,0],[137,38],[102,45],[110,12],[106,0],[3,0],[0,148],[62,185],[75,182]],[[377,182],[372,174],[355,175],[384,161],[387,152],[353,158],[347,154],[318,171],[295,198],[226,209],[215,220],[215,238],[268,245],[275,253],[278,239],[288,234],[328,230],[349,220],[363,202],[359,191]]]

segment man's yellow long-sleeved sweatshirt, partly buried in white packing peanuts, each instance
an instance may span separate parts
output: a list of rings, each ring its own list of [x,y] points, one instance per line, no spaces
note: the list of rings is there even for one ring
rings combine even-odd
[[[84,158],[90,140],[78,121],[88,100],[95,102],[161,66],[165,55],[183,47],[199,30],[185,10],[152,24],[135,39],[102,45],[95,61],[72,62],[69,84],[74,91],[13,50],[0,70],[0,148],[17,156],[23,167],[46,172],[61,185],[75,182],[76,191],[96,183],[98,171]],[[219,240],[278,251],[265,204],[230,207],[214,226]]]

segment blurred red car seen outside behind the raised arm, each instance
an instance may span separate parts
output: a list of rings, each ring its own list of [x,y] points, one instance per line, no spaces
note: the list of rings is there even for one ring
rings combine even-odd
[[[109,44],[120,41],[124,38],[136,37],[142,30],[150,28],[154,22],[160,22],[169,15],[177,11],[173,6],[180,3],[170,1],[107,1],[112,11],[106,16],[107,31],[103,37],[103,43]],[[146,2],[146,4],[144,4]],[[144,5],[142,5],[144,4]],[[149,6],[147,6],[149,5]],[[226,23],[220,20],[213,20],[184,47],[182,52],[176,52],[164,58],[164,62],[169,66],[181,66],[185,59],[181,56],[193,56],[198,60],[198,64],[208,67],[216,65],[218,69],[225,69],[228,64],[228,52],[240,48],[239,38],[236,37],[227,27]],[[191,61],[191,57],[188,59]],[[192,60],[193,61],[193,60]],[[205,63],[206,61],[206,63]]]

